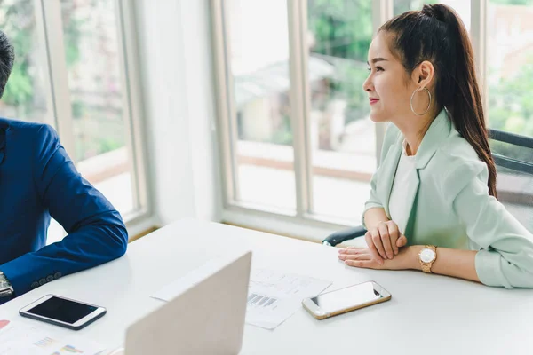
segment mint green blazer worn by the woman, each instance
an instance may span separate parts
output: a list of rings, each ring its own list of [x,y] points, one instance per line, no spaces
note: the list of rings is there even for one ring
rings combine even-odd
[[[402,132],[389,124],[364,212],[382,208],[390,218],[402,141]],[[479,250],[475,269],[483,284],[533,288],[533,235],[489,195],[487,165],[460,137],[445,110],[427,130],[415,161],[417,174],[403,187],[409,217],[394,221],[405,231],[408,245]]]

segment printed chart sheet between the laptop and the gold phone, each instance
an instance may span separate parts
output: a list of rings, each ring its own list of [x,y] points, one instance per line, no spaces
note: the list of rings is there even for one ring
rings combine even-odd
[[[274,329],[302,307],[306,297],[319,295],[330,281],[293,273],[257,269],[251,273],[246,322]]]

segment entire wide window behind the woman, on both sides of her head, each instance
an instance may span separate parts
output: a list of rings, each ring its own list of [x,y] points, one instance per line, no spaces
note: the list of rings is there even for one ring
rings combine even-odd
[[[533,0],[265,3],[212,2],[229,222],[298,234],[360,224],[385,132],[362,90],[368,47],[423,4],[448,4],[465,23],[489,127],[533,136]]]

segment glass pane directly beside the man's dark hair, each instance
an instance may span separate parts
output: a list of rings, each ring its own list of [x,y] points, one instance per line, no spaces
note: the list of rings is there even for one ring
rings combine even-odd
[[[0,3],[0,28],[15,48],[12,74],[0,101],[2,116],[48,122],[50,82],[44,43],[36,30],[33,3],[16,0]]]

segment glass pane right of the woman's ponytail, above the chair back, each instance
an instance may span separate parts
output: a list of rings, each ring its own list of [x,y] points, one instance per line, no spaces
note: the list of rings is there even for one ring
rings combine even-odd
[[[533,136],[533,0],[489,1],[489,126]]]

